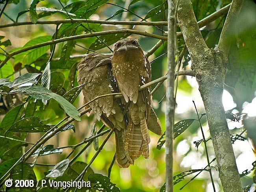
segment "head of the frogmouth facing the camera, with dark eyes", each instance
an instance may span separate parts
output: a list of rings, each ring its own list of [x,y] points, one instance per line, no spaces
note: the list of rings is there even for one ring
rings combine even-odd
[[[139,42],[137,39],[126,38],[120,41],[117,41],[113,47],[113,54],[115,52],[123,52],[128,50],[138,50],[141,49]]]

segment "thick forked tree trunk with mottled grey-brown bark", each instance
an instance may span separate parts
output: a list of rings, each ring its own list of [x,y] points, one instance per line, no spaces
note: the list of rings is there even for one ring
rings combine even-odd
[[[230,133],[222,103],[229,44],[228,28],[239,14],[241,0],[233,0],[226,18],[217,50],[209,49],[200,33],[190,0],[180,0],[178,22],[189,54],[191,69],[195,72],[199,91],[204,102],[213,148],[224,192],[241,192],[241,181],[236,166]]]

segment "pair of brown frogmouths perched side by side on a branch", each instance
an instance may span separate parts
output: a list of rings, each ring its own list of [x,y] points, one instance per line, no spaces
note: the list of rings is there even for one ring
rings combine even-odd
[[[124,98],[106,96],[90,107],[98,120],[114,129],[116,159],[127,168],[140,155],[149,157],[148,129],[161,135],[161,124],[152,109],[150,88],[139,91],[151,81],[151,67],[136,39],[122,39],[114,45],[112,61],[102,54],[89,54],[77,65],[78,83],[84,103],[96,96],[121,92]],[[89,107],[89,106],[87,106]]]

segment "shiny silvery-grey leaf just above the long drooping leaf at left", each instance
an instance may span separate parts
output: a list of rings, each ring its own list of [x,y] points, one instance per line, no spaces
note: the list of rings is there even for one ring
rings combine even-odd
[[[17,77],[16,79],[14,79],[11,82],[7,82],[4,85],[12,88],[12,87],[16,87],[18,85],[24,84],[24,83],[36,83],[37,80],[35,78],[37,78],[39,75],[38,73],[26,73],[24,75],[21,75],[19,77]]]

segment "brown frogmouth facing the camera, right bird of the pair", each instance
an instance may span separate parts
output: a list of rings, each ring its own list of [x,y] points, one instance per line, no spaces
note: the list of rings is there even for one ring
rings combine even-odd
[[[128,103],[129,122],[124,149],[129,161],[140,155],[149,157],[148,129],[161,135],[161,124],[152,109],[150,88],[139,91],[151,81],[151,66],[136,39],[122,39],[113,48],[112,72],[119,91]]]

